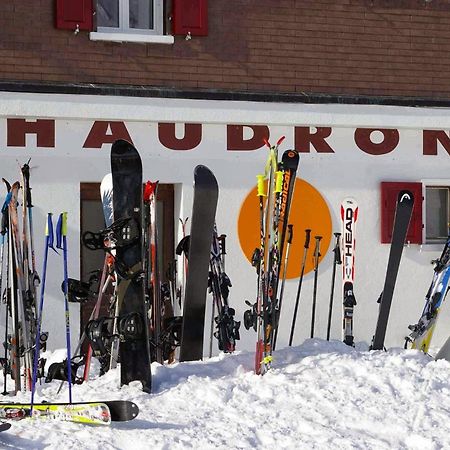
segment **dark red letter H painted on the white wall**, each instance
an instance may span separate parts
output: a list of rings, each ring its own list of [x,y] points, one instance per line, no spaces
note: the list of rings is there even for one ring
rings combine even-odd
[[[38,147],[55,147],[55,121],[52,119],[7,119],[9,147],[25,147],[26,135],[35,134]]]

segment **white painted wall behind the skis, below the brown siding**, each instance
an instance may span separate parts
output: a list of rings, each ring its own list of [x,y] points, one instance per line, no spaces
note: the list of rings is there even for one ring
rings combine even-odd
[[[7,147],[6,118],[13,117],[56,119],[56,148],[37,148],[32,135],[27,138],[26,148]],[[124,121],[143,159],[144,179],[177,184],[176,224],[178,217],[191,215],[194,167],[201,163],[213,170],[220,186],[217,224],[219,232],[228,236],[227,271],[233,283],[230,301],[238,318],[242,318],[246,309],[244,299],[254,301],[256,275],[239,247],[237,217],[241,202],[264,166],[266,150],[227,152],[226,124],[269,125],[272,140],[286,135],[281,150],[293,146],[296,125],[332,126],[333,134],[327,141],[335,153],[317,154],[312,150],[309,154],[302,154],[298,175],[325,198],[335,231],[340,228],[341,200],[351,195],[359,203],[355,277],[358,305],[354,325],[357,342],[369,343],[372,338],[378,311],[376,300],[383,287],[389,253],[389,246],[380,244],[379,183],[439,179],[450,184],[447,152],[440,149],[437,156],[423,156],[421,148],[422,129],[450,129],[450,116],[445,109],[0,93],[0,175],[14,181],[19,176],[17,161],[22,164],[32,158],[31,183],[39,270],[46,213],[53,211],[56,219],[56,215],[65,210],[69,217],[70,276],[79,276],[79,183],[100,182],[110,170],[110,145],[104,145],[102,149],[82,148],[94,120]],[[158,122],[203,123],[202,143],[191,151],[165,149],[157,138]],[[354,143],[356,127],[398,128],[399,146],[387,155],[368,155]],[[303,232],[297,231],[297,238],[302,235]],[[387,332],[387,346],[402,346],[408,333],[407,325],[419,318],[432,277],[430,261],[439,256],[440,249],[441,246],[436,245],[405,248]],[[326,333],[332,258],[330,249],[319,269],[318,337],[325,337]],[[65,342],[61,279],[62,259],[51,255],[43,327],[50,331],[51,348],[63,347]],[[301,343],[309,335],[312,286],[313,275],[310,273],[303,284],[295,343]],[[279,347],[287,344],[296,289],[297,280],[287,281]],[[340,284],[337,282],[332,327],[335,338],[341,335],[339,292]],[[77,334],[79,318],[76,305],[71,306],[71,314],[74,334]],[[436,345],[450,333],[447,325],[450,324],[449,311],[445,311],[443,319],[436,333]],[[0,333],[3,333],[1,324]],[[206,335],[209,335],[209,330],[206,330]],[[242,326],[238,348],[253,349],[254,342],[255,333]]]

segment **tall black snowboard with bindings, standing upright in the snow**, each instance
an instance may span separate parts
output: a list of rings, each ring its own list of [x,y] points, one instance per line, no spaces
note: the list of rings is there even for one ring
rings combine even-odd
[[[122,230],[122,242],[116,249],[118,273],[119,359],[121,384],[142,382],[150,392],[151,369],[148,315],[142,278],[142,163],[132,144],[124,140],[111,147],[114,221],[129,219]]]

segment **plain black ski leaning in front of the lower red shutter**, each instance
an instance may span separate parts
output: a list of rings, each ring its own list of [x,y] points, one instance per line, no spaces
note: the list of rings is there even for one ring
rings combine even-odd
[[[384,288],[381,293],[377,326],[371,346],[372,350],[383,350],[384,348],[384,338],[386,336],[389,312],[391,310],[392,296],[394,295],[395,282],[397,280],[397,273],[413,206],[414,195],[412,192],[406,190],[400,191],[397,197],[394,227],[392,230],[391,251],[389,253]]]

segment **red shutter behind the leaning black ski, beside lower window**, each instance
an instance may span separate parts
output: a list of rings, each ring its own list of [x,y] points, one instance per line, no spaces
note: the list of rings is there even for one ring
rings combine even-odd
[[[410,244],[422,243],[422,183],[382,182],[381,183],[381,243],[389,244],[392,239],[397,195],[408,189],[414,195],[414,207],[406,241]]]

